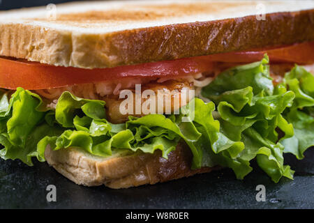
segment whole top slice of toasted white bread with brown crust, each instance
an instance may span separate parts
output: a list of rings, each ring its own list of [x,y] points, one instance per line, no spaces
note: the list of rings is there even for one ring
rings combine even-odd
[[[87,1],[0,13],[0,56],[77,68],[312,40],[314,1]]]

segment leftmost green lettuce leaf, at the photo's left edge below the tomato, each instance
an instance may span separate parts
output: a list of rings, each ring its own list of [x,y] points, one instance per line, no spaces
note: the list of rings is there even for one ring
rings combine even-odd
[[[10,101],[7,93],[3,93],[0,100],[1,158],[20,159],[28,165],[33,164],[33,156],[43,161],[36,151],[38,141],[47,135],[61,134],[63,130],[44,122],[47,112],[43,112],[42,104],[38,95],[22,88],[11,95]]]

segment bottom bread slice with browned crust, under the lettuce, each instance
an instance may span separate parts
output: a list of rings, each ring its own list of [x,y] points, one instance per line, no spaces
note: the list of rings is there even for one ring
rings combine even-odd
[[[47,146],[45,158],[60,174],[79,185],[106,185],[115,189],[155,184],[219,169],[190,169],[192,154],[185,144],[178,144],[167,160],[161,157],[160,151],[103,158],[80,148],[52,151],[50,146]]]

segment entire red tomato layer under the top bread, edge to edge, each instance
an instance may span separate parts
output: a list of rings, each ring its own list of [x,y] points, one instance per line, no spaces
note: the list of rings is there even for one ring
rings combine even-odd
[[[92,70],[0,58],[0,88],[16,89],[21,86],[24,89],[38,90],[124,77],[179,77],[211,71],[215,62],[259,61],[265,53],[271,62],[314,63],[314,42]]]

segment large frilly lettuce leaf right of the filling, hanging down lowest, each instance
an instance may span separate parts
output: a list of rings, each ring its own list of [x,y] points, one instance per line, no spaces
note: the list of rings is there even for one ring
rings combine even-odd
[[[225,155],[225,165],[232,168],[237,178],[244,178],[257,159],[259,167],[274,182],[282,176],[293,178],[290,167],[283,165],[283,145],[277,130],[292,137],[293,127],[283,118],[283,111],[292,105],[294,92],[284,86],[275,88],[268,58],[244,66],[231,68],[218,75],[202,89],[202,95],[217,105],[220,132],[225,138],[241,142],[239,153]]]

